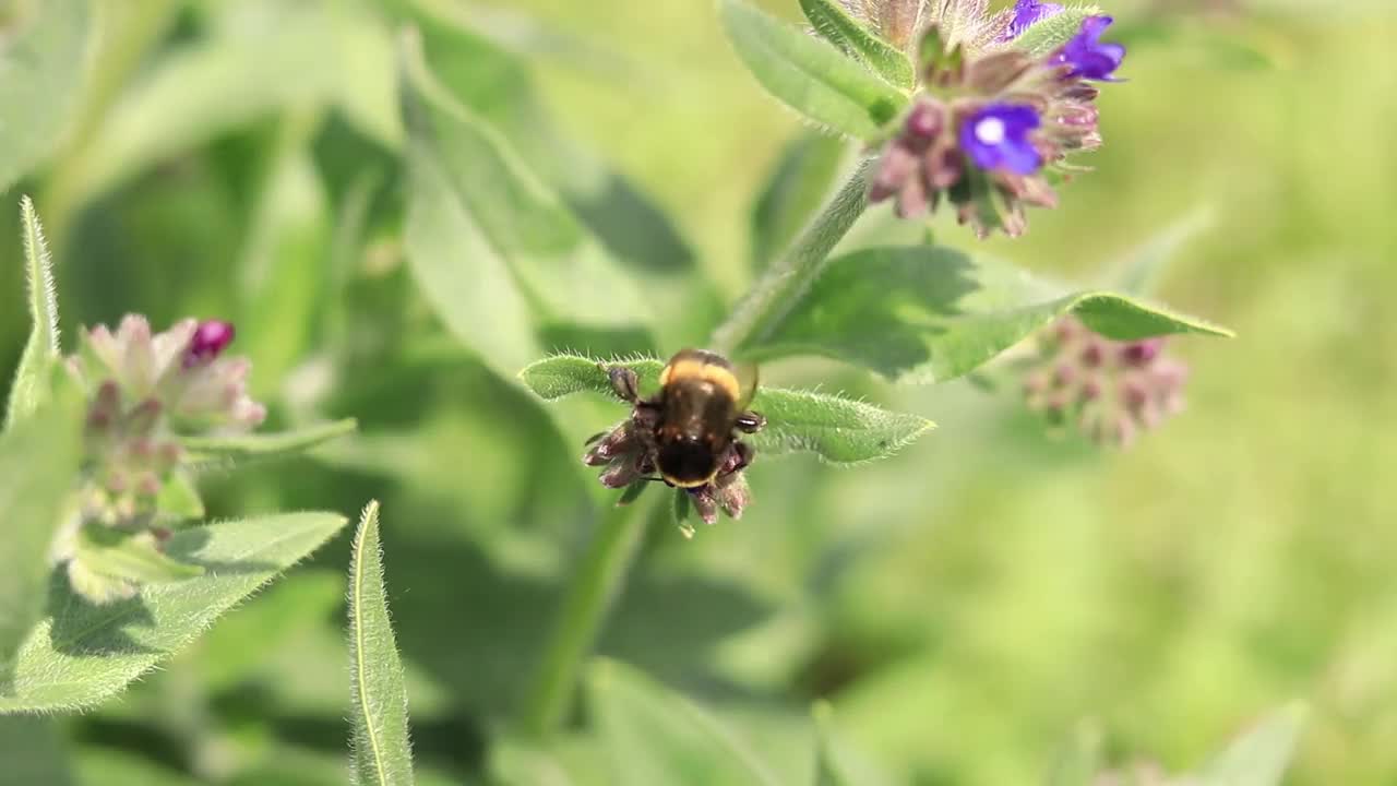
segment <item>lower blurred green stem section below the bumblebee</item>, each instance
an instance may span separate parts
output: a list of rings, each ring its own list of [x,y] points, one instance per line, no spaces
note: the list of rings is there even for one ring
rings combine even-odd
[[[647,515],[637,515],[637,508],[645,508]],[[578,671],[597,643],[606,611],[626,583],[651,509],[640,503],[617,506],[602,517],[567,586],[548,649],[525,698],[520,717],[525,733],[549,734],[567,716]]]

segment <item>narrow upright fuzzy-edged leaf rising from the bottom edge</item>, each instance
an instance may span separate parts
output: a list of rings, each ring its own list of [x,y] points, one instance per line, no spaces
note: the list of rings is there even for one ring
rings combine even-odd
[[[408,692],[383,586],[379,503],[359,517],[349,564],[349,674],[355,783],[412,783]]]

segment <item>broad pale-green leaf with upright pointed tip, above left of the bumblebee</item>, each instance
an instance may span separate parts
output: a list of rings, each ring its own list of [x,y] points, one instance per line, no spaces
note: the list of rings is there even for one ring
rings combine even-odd
[[[634,283],[497,130],[402,39],[408,117],[407,248],[423,295],[496,369],[538,354],[535,326],[626,330],[647,308]]]

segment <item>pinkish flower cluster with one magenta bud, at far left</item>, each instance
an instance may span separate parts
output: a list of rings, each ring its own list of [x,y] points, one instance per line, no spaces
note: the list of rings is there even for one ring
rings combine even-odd
[[[126,316],[110,331],[81,336],[68,371],[87,394],[81,506],[60,538],[74,589],[92,601],[130,597],[137,579],[102,558],[103,550],[162,557],[169,524],[184,517],[166,509],[172,488],[189,488],[189,456],[180,436],[243,432],[267,411],[246,390],[250,364],[226,358],[233,340],[226,322],[187,319],[152,334],[142,316]]]

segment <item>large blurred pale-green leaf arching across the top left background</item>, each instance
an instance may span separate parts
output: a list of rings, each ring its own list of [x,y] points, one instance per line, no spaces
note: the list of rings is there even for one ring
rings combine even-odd
[[[236,13],[239,6],[229,4]],[[80,151],[64,204],[286,108],[338,106],[384,143],[402,136],[393,101],[393,42],[356,3],[260,4],[239,24],[179,45],[144,69]],[[261,13],[257,13],[261,11]],[[337,63],[327,67],[326,63]]]

